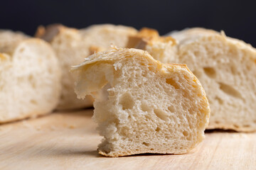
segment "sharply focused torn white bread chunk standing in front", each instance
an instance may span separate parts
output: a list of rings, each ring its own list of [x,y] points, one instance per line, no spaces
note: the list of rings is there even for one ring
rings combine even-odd
[[[203,140],[210,108],[186,65],[119,48],[87,57],[73,72],[78,98],[95,97],[93,120],[105,137],[100,154],[182,154]],[[105,98],[98,95],[102,89]]]

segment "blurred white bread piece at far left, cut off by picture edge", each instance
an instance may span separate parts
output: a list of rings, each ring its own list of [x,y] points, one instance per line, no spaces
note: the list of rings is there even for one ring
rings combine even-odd
[[[0,123],[53,111],[61,72],[47,42],[1,30],[0,63]]]

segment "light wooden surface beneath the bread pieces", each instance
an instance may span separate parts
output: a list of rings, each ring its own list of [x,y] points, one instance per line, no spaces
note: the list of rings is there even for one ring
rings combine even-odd
[[[97,154],[92,110],[0,126],[0,169],[256,169],[256,133],[208,132],[188,154]]]

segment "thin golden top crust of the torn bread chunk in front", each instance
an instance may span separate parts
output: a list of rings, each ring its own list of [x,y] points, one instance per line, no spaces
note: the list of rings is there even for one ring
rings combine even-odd
[[[149,52],[146,52],[144,50],[137,50],[133,48],[130,48],[130,49],[117,48],[117,47],[112,47],[112,49],[110,50],[100,52],[100,53],[98,52],[95,55],[90,55],[90,57],[85,58],[85,62],[82,62],[77,66],[73,66],[70,69],[70,71],[75,74],[75,72],[82,72],[82,70],[86,69],[87,67],[90,67],[91,64],[97,64],[97,62],[101,62],[101,63],[106,62],[106,63],[113,64],[117,60],[123,60],[124,58],[128,58],[128,57],[137,57],[138,60],[141,60],[141,61],[147,60],[149,63],[154,65],[154,67],[151,68],[152,71],[154,72],[158,72],[156,68],[160,69],[160,71],[163,72],[163,74],[169,71],[173,72],[172,70],[174,69],[174,67],[182,67],[183,69],[186,69],[188,72],[191,72],[186,66],[186,64],[163,64],[158,60],[154,60],[154,58],[151,57],[151,55],[149,55]],[[191,74],[193,73],[191,72]],[[78,79],[80,78],[78,77]],[[194,79],[196,83],[200,84],[200,82],[195,76],[194,76]],[[76,84],[75,93],[78,95],[78,98],[85,98],[86,95],[92,93],[96,89],[101,89],[102,86],[105,85],[105,83],[107,82],[102,81],[99,85],[100,87],[91,85],[90,83],[87,83],[87,87],[79,86],[77,83],[75,83]],[[202,93],[205,94],[204,91]]]

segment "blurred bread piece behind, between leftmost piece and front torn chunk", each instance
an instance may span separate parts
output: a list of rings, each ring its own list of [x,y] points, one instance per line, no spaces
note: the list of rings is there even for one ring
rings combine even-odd
[[[77,98],[74,92],[75,77],[69,72],[71,66],[80,64],[85,57],[95,52],[107,50],[111,44],[126,47],[129,35],[136,33],[134,28],[110,24],[90,26],[81,30],[60,25],[39,27],[36,36],[50,42],[63,69],[63,90],[58,109],[92,106],[91,96],[86,96],[83,100]]]

